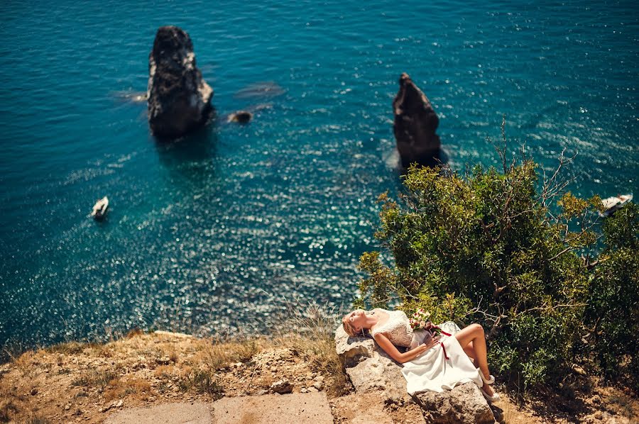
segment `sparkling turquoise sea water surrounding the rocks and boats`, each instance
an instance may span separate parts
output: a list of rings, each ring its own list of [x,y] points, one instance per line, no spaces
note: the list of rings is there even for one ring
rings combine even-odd
[[[635,2],[143,3],[0,3],[0,344],[261,332],[289,303],[346,307],[375,199],[400,186],[401,72],[453,167],[495,163],[506,114],[546,169],[579,153],[574,193],[639,192]],[[160,145],[127,96],[166,24],[191,35],[219,119]],[[253,122],[224,122],[241,108]]]

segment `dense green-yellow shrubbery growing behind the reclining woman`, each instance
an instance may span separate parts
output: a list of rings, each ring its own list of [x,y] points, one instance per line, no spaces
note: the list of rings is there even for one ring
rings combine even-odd
[[[499,152],[503,172],[413,166],[399,202],[380,196],[375,235],[394,265],[379,252],[361,256],[368,277],[356,306],[398,299],[435,322],[479,322],[491,366],[526,385],[557,379],[578,354],[596,355],[610,374],[630,362],[633,339],[624,336],[639,330],[637,208],[606,221],[606,247],[592,261],[581,254],[598,246],[601,201],[564,193],[570,159],[562,155],[557,172],[540,178],[534,162],[507,164]]]

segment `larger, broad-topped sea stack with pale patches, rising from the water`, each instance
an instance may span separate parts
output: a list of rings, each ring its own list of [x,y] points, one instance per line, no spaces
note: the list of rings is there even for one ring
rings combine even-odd
[[[206,123],[213,89],[195,66],[189,35],[177,26],[158,28],[148,56],[148,123],[159,138],[178,138]]]

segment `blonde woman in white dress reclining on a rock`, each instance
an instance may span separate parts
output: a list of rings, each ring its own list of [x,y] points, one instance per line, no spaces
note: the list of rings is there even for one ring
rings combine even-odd
[[[495,377],[488,371],[484,328],[479,324],[459,330],[455,323],[448,321],[440,326],[441,335],[426,342],[423,342],[426,333],[413,333],[403,311],[356,309],[344,316],[342,325],[351,336],[366,335],[365,330],[368,330],[391,358],[404,365],[402,374],[411,395],[451,390],[473,381],[488,401],[499,399],[490,386]],[[402,353],[397,346],[408,349]]]

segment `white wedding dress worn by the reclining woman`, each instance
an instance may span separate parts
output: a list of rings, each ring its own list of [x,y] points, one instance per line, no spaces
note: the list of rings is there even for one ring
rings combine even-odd
[[[379,311],[373,309],[373,313]],[[403,311],[387,311],[388,321],[371,331],[373,337],[383,333],[395,346],[415,347],[422,342],[422,332],[413,333],[408,317]],[[459,384],[474,382],[477,386],[484,386],[484,381],[479,376],[479,370],[475,368],[471,359],[461,348],[454,335],[459,332],[459,327],[452,321],[447,321],[440,328],[450,336],[442,334],[439,343],[426,352],[405,362],[402,374],[406,379],[406,389],[410,395],[424,391],[451,390]]]

